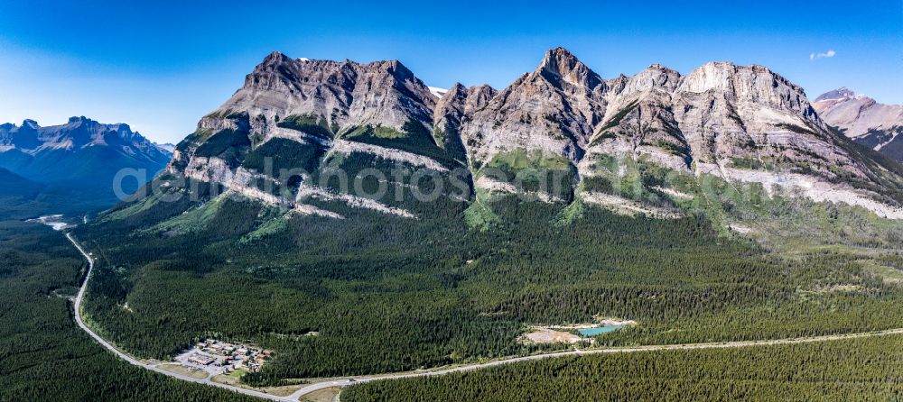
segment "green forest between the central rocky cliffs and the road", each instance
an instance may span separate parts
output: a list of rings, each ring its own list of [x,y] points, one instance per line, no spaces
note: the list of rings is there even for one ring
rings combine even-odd
[[[240,197],[182,215],[172,204],[119,207],[108,216],[121,219],[77,231],[100,256],[88,318],[148,357],[206,335],[250,339],[277,352],[246,378],[258,385],[561,348],[517,337],[594,315],[638,321],[598,338],[619,345],[903,326],[899,252],[775,253],[704,215],[654,220],[513,197],[492,202],[498,221],[486,230],[453,200],[405,199],[416,221],[317,202],[346,219],[275,214]]]

